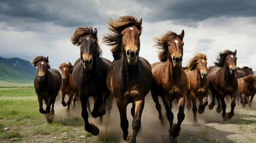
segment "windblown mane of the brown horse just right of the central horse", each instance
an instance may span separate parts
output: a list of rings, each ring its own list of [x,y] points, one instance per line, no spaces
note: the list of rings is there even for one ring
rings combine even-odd
[[[172,31],[167,31],[166,34],[160,36],[160,37],[154,37],[153,40],[156,42],[154,46],[159,49],[158,58],[161,62],[167,61],[168,58],[168,42],[172,40],[175,37],[179,37],[178,34]],[[179,37],[181,40],[183,40],[182,37]]]

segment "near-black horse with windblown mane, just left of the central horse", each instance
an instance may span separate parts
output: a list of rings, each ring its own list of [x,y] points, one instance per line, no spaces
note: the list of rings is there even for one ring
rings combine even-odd
[[[73,77],[78,89],[78,97],[82,104],[82,117],[85,122],[85,130],[96,136],[100,133],[98,127],[88,121],[88,98],[93,97],[94,107],[92,117],[103,116],[106,110],[103,106],[103,95],[108,96],[110,91],[106,84],[106,77],[111,62],[102,58],[102,50],[97,38],[97,29],[90,26],[79,27],[71,36],[71,42],[80,46],[80,59],[75,64]]]

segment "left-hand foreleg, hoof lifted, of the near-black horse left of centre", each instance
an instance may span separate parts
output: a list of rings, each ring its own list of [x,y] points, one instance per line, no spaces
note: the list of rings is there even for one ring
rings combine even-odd
[[[88,98],[82,94],[81,92],[79,92],[79,98],[80,98],[80,101],[81,101],[81,105],[82,105],[82,117],[84,119],[84,122],[85,122],[85,130],[89,133],[91,133],[92,135],[96,136],[100,133],[100,130],[98,127],[96,127],[93,123],[90,123],[89,124],[89,121],[88,121],[88,111],[87,111],[87,100]]]

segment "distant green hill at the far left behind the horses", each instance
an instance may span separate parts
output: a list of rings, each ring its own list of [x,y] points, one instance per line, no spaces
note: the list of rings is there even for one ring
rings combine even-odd
[[[37,69],[29,61],[0,57],[0,81],[33,83]]]

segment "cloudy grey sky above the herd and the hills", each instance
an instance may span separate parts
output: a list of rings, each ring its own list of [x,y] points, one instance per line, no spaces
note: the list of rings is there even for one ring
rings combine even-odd
[[[75,29],[97,28],[104,58],[113,60],[110,47],[102,43],[109,33],[107,21],[131,15],[143,19],[140,56],[158,62],[153,37],[167,31],[185,31],[183,66],[194,53],[207,55],[213,65],[219,52],[237,50],[237,66],[256,70],[256,1],[84,0],[0,1],[0,56],[31,61],[48,56],[52,68],[80,57],[72,45]]]

